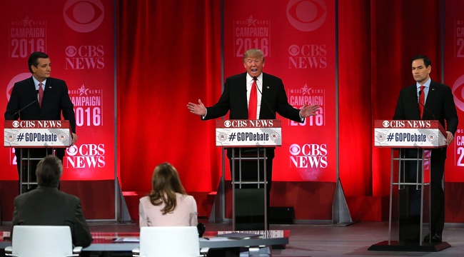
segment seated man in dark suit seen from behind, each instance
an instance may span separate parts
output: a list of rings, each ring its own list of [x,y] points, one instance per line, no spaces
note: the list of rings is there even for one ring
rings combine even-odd
[[[58,157],[49,155],[39,161],[39,187],[14,198],[12,225],[69,226],[74,246],[90,246],[92,237],[81,200],[57,188],[62,173],[63,164]]]

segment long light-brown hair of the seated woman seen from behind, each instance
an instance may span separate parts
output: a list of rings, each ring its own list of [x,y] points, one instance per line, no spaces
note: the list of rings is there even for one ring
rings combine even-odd
[[[151,203],[166,206],[161,209],[163,214],[172,213],[176,208],[176,193],[186,194],[176,168],[170,163],[161,163],[156,166],[151,177],[151,193],[148,196]]]

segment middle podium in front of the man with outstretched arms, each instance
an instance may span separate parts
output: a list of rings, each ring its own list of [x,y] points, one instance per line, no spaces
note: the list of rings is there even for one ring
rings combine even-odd
[[[216,121],[216,146],[232,152],[233,231],[268,230],[266,148],[281,145],[280,120]]]

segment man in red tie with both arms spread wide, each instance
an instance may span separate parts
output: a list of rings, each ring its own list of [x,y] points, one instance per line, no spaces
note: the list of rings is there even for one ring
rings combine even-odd
[[[287,94],[283,82],[276,76],[263,73],[264,55],[259,49],[249,49],[243,54],[243,66],[246,72],[228,77],[224,84],[223,93],[218,103],[211,107],[205,107],[201,100],[198,104],[188,103],[187,108],[192,114],[201,116],[201,119],[216,119],[230,111],[230,119],[276,119],[276,113],[291,119],[303,122],[311,115],[316,115],[318,105],[308,106],[305,104],[301,109],[295,109],[288,104]],[[257,108],[256,116],[248,116],[248,103],[251,101],[253,81],[256,80]],[[253,114],[254,115],[254,114]],[[251,150],[253,151],[253,149]],[[256,148],[255,150],[256,151]],[[228,149],[227,156],[230,160],[232,151]],[[266,180],[268,181],[268,203],[271,191],[272,161],[274,149],[267,148],[266,156]],[[231,168],[232,170],[232,168]],[[237,173],[237,172],[236,172]],[[246,176],[246,173],[243,173]]]

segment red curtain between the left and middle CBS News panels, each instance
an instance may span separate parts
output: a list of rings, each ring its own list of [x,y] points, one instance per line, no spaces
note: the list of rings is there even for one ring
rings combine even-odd
[[[221,94],[221,1],[119,1],[118,138],[123,190],[151,189],[168,161],[187,191],[216,191],[214,124],[188,101]]]

